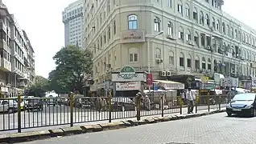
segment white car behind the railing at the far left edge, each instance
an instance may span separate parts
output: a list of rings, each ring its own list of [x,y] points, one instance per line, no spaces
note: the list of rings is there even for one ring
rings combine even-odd
[[[18,103],[15,100],[0,100],[0,112],[14,113],[18,110]]]

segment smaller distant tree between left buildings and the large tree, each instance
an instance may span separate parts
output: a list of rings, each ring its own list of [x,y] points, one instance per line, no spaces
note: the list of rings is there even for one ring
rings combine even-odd
[[[33,83],[28,90],[25,91],[26,95],[31,95],[35,97],[43,97],[45,92],[47,92],[49,86],[49,82],[47,78],[43,78],[42,76],[35,76],[35,83]]]

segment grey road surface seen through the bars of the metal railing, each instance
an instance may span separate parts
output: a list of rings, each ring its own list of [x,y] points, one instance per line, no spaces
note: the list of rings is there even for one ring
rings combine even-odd
[[[222,105],[225,106],[225,105]],[[217,109],[218,106],[210,106],[211,109]],[[198,106],[198,110],[207,110],[208,106]],[[188,109],[182,109],[186,114]],[[179,109],[164,110],[164,114],[180,113]],[[141,116],[159,115],[161,110],[141,110]],[[112,119],[134,118],[136,111],[115,111],[111,114]],[[103,111],[99,113],[97,110],[78,109],[73,110],[73,122],[95,122],[109,119],[109,112]],[[22,129],[42,126],[67,125],[70,123],[70,107],[69,106],[45,106],[43,111],[22,111],[21,113]],[[0,130],[12,130],[18,127],[18,114],[0,114]],[[2,134],[2,132],[0,132]]]

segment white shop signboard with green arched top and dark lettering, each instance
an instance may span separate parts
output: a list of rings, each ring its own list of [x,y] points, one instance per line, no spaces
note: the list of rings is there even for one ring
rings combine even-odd
[[[112,82],[146,82],[147,75],[136,72],[131,66],[124,66],[119,73],[112,73]]]

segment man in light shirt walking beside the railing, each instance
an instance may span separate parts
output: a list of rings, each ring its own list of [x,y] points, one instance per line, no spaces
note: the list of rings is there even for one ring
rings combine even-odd
[[[196,102],[196,91],[192,91],[189,87],[188,90],[181,92],[181,98],[184,105],[188,105],[188,114],[192,114]]]

